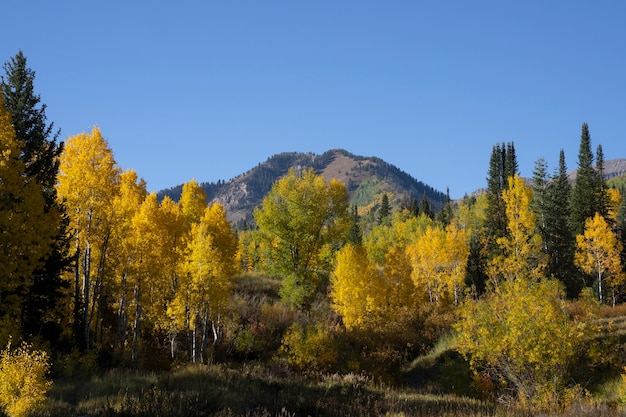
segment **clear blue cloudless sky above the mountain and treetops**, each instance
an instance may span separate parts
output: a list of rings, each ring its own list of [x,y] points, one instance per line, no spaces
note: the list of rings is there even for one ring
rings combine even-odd
[[[580,127],[626,157],[623,1],[5,0],[62,138],[98,125],[151,191],[285,151],[378,156],[461,197],[515,143],[522,175]]]

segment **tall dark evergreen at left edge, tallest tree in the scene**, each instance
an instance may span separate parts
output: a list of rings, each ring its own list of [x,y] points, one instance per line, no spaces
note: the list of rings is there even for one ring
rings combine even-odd
[[[57,201],[55,188],[63,143],[57,142],[60,131],[54,130],[53,123],[47,123],[46,105],[34,90],[35,72],[28,68],[22,51],[4,64],[4,70],[2,95],[16,138],[22,141],[19,158],[25,167],[24,175],[39,185],[44,215],[56,229],[51,251],[33,273],[34,284],[22,313],[23,331],[25,335],[39,334],[50,340],[60,334],[58,317],[51,313],[66,286],[61,272],[70,264],[69,221],[64,207]]]

